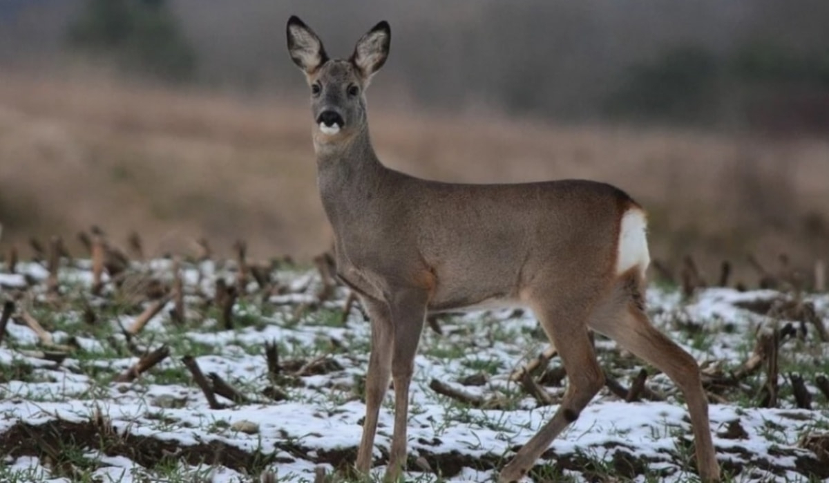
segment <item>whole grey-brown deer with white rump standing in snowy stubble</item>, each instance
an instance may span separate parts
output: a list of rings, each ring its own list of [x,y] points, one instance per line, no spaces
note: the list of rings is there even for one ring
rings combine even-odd
[[[691,416],[701,479],[720,481],[696,359],[645,311],[644,209],[623,190],[595,181],[443,183],[387,168],[371,145],[366,88],[389,55],[389,23],[366,32],[347,59],[329,57],[296,16],[286,31],[288,53],[311,90],[317,183],[337,278],[371,320],[356,471],[371,470],[390,379],[394,429],[385,480],[405,470],[410,383],[426,316],[497,306],[531,310],[568,375],[555,414],[502,468],[499,481],[521,480],[604,386],[590,330],[676,383]]]

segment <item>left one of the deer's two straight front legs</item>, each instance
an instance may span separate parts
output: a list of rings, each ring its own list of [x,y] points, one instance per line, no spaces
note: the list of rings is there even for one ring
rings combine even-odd
[[[363,420],[363,434],[355,466],[357,471],[367,473],[371,469],[377,417],[385,392],[389,388],[395,331],[391,325],[389,307],[385,302],[361,297],[361,303],[371,319],[371,356],[366,374],[366,419]]]

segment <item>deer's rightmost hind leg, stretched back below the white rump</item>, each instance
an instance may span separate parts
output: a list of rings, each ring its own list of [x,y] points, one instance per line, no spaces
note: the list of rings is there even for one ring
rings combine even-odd
[[[648,319],[643,307],[643,288],[638,273],[630,272],[618,285],[619,303],[614,317],[602,317],[593,329],[615,340],[638,358],[661,370],[685,395],[696,447],[696,464],[702,481],[720,481],[708,420],[708,401],[702,388],[696,360],[662,334]],[[621,316],[619,316],[621,315]]]

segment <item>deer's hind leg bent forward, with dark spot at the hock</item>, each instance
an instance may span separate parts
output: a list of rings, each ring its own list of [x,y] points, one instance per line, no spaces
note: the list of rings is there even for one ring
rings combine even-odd
[[[579,413],[604,386],[604,374],[587,330],[587,305],[567,306],[579,308],[556,310],[545,306],[533,307],[541,327],[558,349],[567,369],[567,390],[558,411],[504,467],[499,481],[517,481],[525,476],[555,437],[579,417]]]

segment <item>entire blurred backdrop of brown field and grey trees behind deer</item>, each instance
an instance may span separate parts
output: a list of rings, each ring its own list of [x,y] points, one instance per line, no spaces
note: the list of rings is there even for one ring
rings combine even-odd
[[[618,184],[669,265],[829,258],[825,0],[2,0],[0,246],[95,224],[157,256],[327,249],[293,13],[333,56],[390,21],[390,167]]]

